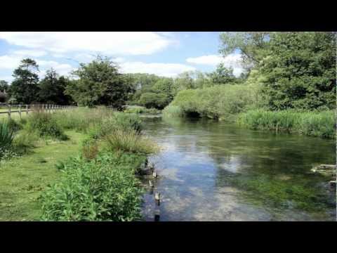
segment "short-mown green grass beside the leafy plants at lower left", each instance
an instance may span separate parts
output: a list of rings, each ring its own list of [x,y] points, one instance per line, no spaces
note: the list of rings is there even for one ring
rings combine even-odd
[[[37,148],[0,164],[0,221],[35,221],[41,216],[38,197],[60,176],[58,161],[77,155],[85,134],[66,131],[67,141],[41,141]]]

